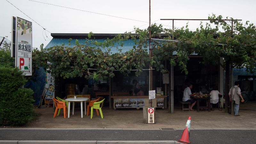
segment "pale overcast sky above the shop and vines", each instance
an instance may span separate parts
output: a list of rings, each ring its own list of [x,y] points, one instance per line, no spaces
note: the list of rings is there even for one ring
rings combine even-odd
[[[255,25],[255,7],[255,0],[151,0],[151,23],[172,28],[171,20],[160,19],[207,19],[214,13]],[[51,33],[120,34],[149,26],[149,0],[0,0],[0,13],[0,37],[8,40],[12,16],[32,22],[33,48],[42,43],[45,47]],[[187,22],[174,21],[174,27],[185,27]],[[195,30],[199,24],[189,21],[188,28]]]

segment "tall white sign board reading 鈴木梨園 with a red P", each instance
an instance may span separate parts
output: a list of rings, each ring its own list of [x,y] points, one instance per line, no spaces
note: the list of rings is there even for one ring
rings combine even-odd
[[[15,66],[32,76],[32,22],[16,17]]]

